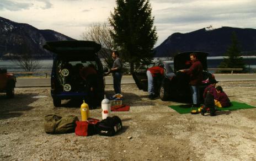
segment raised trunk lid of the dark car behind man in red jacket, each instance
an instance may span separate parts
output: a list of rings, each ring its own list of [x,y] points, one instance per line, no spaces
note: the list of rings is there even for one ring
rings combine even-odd
[[[188,51],[178,53],[178,55],[174,56],[174,72],[176,73],[180,69],[188,69],[190,68],[190,53],[196,53],[198,55],[198,60],[202,63],[202,68],[207,71],[207,52],[201,51]]]

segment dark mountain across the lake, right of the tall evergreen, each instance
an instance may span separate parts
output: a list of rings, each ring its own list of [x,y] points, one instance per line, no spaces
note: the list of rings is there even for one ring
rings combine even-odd
[[[205,51],[209,56],[223,56],[231,44],[231,34],[235,32],[243,55],[256,53],[256,29],[222,27],[214,30],[205,28],[191,33],[174,33],[157,46],[156,57],[174,56],[184,51]]]

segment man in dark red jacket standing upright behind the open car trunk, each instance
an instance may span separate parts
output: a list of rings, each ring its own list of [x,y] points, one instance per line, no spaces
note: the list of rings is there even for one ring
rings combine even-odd
[[[190,60],[192,65],[189,69],[180,70],[180,72],[184,72],[190,77],[190,88],[192,93],[193,105],[194,107],[200,106],[199,100],[199,85],[202,82],[202,64],[198,60],[198,56],[196,53],[190,53]]]

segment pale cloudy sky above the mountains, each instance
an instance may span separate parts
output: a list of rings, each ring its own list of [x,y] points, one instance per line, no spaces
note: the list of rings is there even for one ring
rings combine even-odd
[[[151,0],[161,44],[173,33],[212,25],[256,29],[256,0]],[[0,17],[81,40],[93,23],[107,22],[115,0],[0,0]]]

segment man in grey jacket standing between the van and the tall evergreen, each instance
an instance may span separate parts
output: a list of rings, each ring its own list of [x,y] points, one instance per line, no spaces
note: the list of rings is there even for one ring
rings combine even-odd
[[[110,69],[110,71],[105,75],[108,75],[109,73],[113,73],[113,84],[114,84],[115,93],[121,94],[122,62],[119,58],[118,51],[112,52],[112,58],[114,59],[113,66]]]

